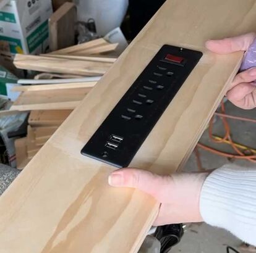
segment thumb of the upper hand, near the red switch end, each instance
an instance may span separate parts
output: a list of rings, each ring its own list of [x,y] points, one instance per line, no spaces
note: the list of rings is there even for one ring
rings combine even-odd
[[[208,40],[205,46],[217,54],[229,54],[236,51],[246,51],[255,38],[255,33],[247,33],[233,38]]]

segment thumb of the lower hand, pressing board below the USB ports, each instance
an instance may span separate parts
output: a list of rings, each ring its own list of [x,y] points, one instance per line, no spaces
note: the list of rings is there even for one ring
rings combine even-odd
[[[158,201],[162,201],[169,194],[170,176],[158,176],[145,170],[135,168],[124,168],[116,170],[109,176],[109,185],[114,187],[129,187],[140,189],[150,194]],[[166,192],[166,194],[163,194]]]

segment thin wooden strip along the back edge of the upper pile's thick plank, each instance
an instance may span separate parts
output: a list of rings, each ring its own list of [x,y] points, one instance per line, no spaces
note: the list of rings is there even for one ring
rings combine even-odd
[[[69,60],[90,60],[92,62],[108,62],[114,63],[116,57],[104,57],[104,56],[72,56],[69,54],[40,54],[40,56],[53,57],[53,58],[62,58]]]

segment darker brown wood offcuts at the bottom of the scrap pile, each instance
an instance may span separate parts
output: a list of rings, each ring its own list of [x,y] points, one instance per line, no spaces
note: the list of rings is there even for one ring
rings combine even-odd
[[[72,110],[33,110],[28,118],[27,137],[15,140],[17,168],[25,165],[43,147]]]

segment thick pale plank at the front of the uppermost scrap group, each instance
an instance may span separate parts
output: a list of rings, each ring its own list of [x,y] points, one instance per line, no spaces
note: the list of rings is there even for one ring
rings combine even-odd
[[[17,68],[41,72],[70,73],[75,75],[103,75],[112,64],[85,60],[66,60],[43,56],[16,54]]]

